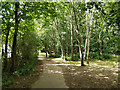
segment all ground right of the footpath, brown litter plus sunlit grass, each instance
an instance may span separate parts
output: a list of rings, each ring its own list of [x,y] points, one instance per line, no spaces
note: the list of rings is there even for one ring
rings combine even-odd
[[[84,67],[80,61],[62,61],[52,59],[55,65],[62,67],[66,84],[70,88],[117,88],[118,62],[116,58],[108,60],[90,60]],[[62,63],[62,64],[61,64]],[[63,64],[64,63],[64,64]]]

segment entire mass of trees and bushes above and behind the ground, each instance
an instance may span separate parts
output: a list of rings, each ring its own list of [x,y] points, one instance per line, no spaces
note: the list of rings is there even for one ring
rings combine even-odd
[[[119,30],[120,2],[3,2],[3,75],[34,70],[39,51],[81,66],[109,59],[120,54]]]

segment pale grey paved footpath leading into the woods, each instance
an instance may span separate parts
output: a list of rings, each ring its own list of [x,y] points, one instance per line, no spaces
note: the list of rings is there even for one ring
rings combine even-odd
[[[41,57],[42,59],[42,57]],[[51,61],[43,60],[43,73],[33,83],[32,88],[68,88],[65,84],[62,69]]]

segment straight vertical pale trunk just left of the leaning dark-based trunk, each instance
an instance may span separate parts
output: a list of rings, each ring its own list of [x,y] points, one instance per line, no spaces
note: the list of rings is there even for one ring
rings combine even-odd
[[[73,2],[71,0],[71,4],[73,5]],[[73,61],[73,20],[72,20],[72,10],[73,8],[71,7],[71,23],[70,23],[70,28],[71,28],[71,54],[72,54],[72,57],[71,57],[71,60]]]

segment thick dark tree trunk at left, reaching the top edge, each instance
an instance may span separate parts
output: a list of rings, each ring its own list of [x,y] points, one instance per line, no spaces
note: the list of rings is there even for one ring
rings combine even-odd
[[[16,61],[16,45],[17,45],[17,33],[18,33],[18,8],[19,8],[19,2],[15,3],[15,33],[13,38],[13,45],[12,45],[12,66],[11,66],[11,72],[15,71],[15,61]]]

